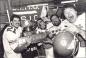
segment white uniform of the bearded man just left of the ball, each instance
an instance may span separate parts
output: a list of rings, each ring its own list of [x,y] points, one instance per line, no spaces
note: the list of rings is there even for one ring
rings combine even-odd
[[[51,34],[57,34],[58,33],[58,26],[54,26],[52,22],[47,24],[47,31]],[[53,40],[53,37],[50,39]],[[54,58],[54,51],[53,46],[50,44],[45,44],[45,51],[46,51],[46,58]]]

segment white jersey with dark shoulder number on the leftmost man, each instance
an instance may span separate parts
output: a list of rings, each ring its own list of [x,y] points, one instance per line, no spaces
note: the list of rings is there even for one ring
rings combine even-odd
[[[16,40],[20,37],[22,28],[18,29],[8,26],[3,33],[4,58],[22,58],[21,53],[15,53],[13,50],[17,47]],[[11,43],[14,43],[11,45]]]

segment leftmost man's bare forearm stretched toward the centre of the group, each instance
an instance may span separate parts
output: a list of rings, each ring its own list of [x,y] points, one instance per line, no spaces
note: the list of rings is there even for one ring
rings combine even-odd
[[[10,46],[15,52],[21,52],[22,50],[26,49],[27,46],[30,45],[30,43],[37,43],[46,38],[46,33],[40,33],[40,34],[33,34],[28,37],[21,37],[18,38],[14,43],[11,43]]]

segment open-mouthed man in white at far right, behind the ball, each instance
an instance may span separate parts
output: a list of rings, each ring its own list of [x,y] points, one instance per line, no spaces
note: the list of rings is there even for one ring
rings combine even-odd
[[[86,57],[86,30],[85,30],[85,13],[77,15],[77,9],[74,5],[67,4],[63,6],[63,13],[66,18],[61,24],[62,29],[75,34],[80,41],[79,51],[75,58]]]

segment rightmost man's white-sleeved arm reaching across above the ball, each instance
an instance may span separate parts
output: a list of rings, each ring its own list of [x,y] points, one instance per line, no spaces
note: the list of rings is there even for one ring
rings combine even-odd
[[[82,30],[82,29],[78,28],[76,25],[69,23],[69,22],[65,23],[65,26],[66,26],[65,27],[66,30],[73,32],[73,33],[78,33],[82,36],[81,39],[86,40],[86,38],[85,38],[86,31],[85,30]]]

